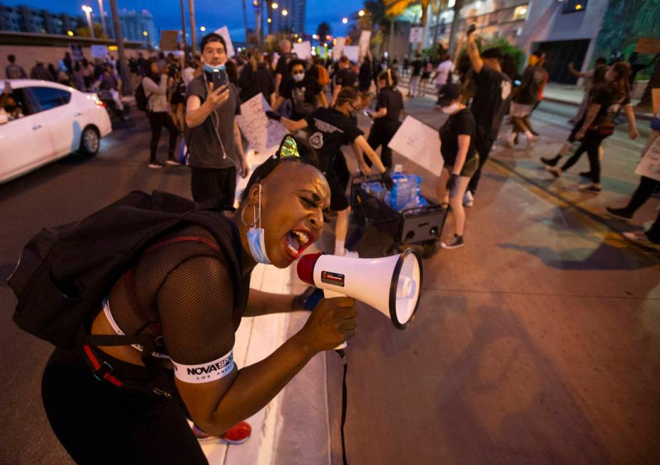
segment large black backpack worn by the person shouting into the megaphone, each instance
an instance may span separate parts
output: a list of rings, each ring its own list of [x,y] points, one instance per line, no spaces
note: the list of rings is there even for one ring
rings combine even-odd
[[[232,277],[235,308],[247,300],[240,237],[218,202],[196,206],[178,195],[134,191],[84,220],[45,228],[27,243],[7,282],[18,297],[14,322],[57,347],[148,344],[148,336],[87,335],[114,282],[159,236],[200,225],[218,242]],[[147,347],[145,347],[147,348]],[[151,352],[143,351],[146,354]]]

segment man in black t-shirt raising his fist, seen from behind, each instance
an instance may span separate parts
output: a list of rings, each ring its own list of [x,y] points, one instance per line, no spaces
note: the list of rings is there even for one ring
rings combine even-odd
[[[467,56],[472,63],[470,79],[474,83],[474,97],[470,111],[477,123],[475,147],[479,153],[479,166],[467,186],[463,199],[466,207],[471,207],[474,203],[474,195],[477,193],[482,168],[497,139],[499,127],[502,126],[502,120],[509,108],[512,91],[511,79],[502,73],[500,67],[502,51],[494,47],[479,53],[476,39],[475,34],[467,34]],[[460,44],[457,50],[460,50]]]

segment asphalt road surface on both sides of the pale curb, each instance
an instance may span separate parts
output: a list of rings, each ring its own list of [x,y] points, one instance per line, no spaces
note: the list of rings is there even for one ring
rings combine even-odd
[[[442,122],[427,101],[407,110]],[[351,464],[660,462],[660,260],[618,233],[654,218],[658,201],[636,226],[603,214],[636,185],[639,143],[618,132],[606,143],[600,195],[577,191],[577,175],[552,181],[539,170],[539,155],[567,135],[570,111],[537,110],[542,140],[532,152],[496,149],[468,212],[467,246],[425,260],[410,329],[362,312],[348,348]],[[190,196],[186,168],[148,170],[148,138],[139,116],[103,140],[96,158],[66,158],[0,185],[0,277],[46,225],[130,190]],[[422,174],[432,195],[435,181]],[[375,253],[379,240],[365,237],[360,250]],[[0,280],[0,463],[70,463],[41,407],[51,347],[11,322],[13,306]],[[340,366],[328,357],[336,433]],[[334,437],[335,463],[339,444]]]

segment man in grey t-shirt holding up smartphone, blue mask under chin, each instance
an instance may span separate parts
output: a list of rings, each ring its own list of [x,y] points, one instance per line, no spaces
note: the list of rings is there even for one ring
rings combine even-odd
[[[211,33],[201,41],[203,73],[186,90],[184,136],[190,152],[191,190],[196,202],[222,196],[231,205],[236,170],[249,167],[235,116],[240,114],[238,88],[228,81],[225,39]]]

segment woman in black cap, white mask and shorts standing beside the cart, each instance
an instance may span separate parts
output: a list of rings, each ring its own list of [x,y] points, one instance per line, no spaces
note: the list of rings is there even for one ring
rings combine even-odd
[[[479,155],[474,145],[477,123],[472,112],[462,103],[462,98],[462,86],[449,83],[440,90],[438,99],[438,105],[450,117],[440,128],[440,152],[445,165],[436,193],[438,202],[448,203],[454,215],[454,237],[440,242],[443,249],[456,249],[465,245],[463,198],[470,178],[479,167]]]

